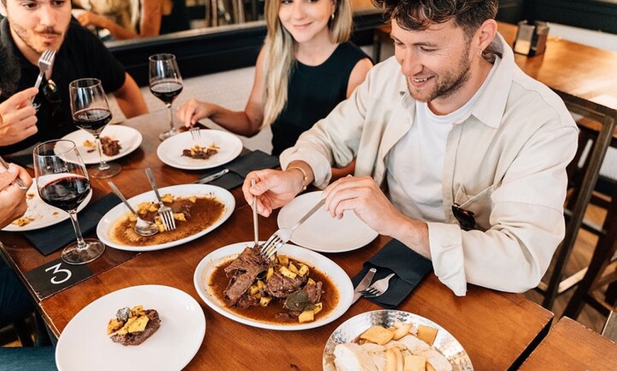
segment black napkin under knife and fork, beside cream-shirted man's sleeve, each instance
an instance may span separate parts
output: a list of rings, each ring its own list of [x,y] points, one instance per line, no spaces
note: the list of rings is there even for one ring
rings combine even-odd
[[[360,280],[370,268],[377,269],[372,282],[384,278],[392,272],[396,273],[390,278],[390,285],[384,295],[369,299],[386,309],[393,309],[398,307],[433,269],[433,263],[416,251],[409,249],[401,241],[393,239],[372,256],[369,261],[365,262],[364,268],[352,279],[354,287],[360,283]]]

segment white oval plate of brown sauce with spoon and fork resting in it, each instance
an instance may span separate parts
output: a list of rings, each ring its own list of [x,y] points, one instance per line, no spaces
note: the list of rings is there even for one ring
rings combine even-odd
[[[136,195],[128,203],[145,220],[160,224],[154,236],[139,236],[135,220],[123,203],[114,206],[96,226],[96,235],[107,246],[126,251],[154,251],[185,244],[223,224],[235,208],[233,195],[225,188],[209,184],[181,184],[160,188],[165,205],[172,207],[176,229],[162,231],[154,191]]]

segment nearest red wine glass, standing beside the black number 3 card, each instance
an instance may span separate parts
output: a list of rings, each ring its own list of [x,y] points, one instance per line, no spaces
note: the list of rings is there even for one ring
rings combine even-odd
[[[66,139],[38,144],[33,150],[38,195],[49,205],[68,212],[77,241],[62,251],[69,264],[85,264],[101,256],[105,245],[98,239],[84,239],[77,222],[77,207],[90,190],[88,171],[74,142]]]

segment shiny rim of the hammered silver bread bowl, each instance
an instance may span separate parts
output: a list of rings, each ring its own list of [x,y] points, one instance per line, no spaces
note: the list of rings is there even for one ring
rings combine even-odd
[[[445,358],[447,358],[450,361],[450,364],[452,365],[452,370],[473,371],[474,368],[472,365],[472,360],[469,358],[469,354],[467,354],[467,350],[463,348],[462,344],[457,340],[457,338],[452,336],[452,334],[448,332],[448,330],[444,329],[443,326],[440,326],[440,324],[435,323],[435,321],[432,321],[424,316],[421,316],[419,314],[414,314],[411,312],[401,311],[398,309],[378,309],[378,310],[373,310],[369,312],[363,312],[363,313],[356,314],[355,316],[352,316],[346,319],[345,321],[343,321],[342,324],[338,325],[338,327],[334,331],[332,331],[330,336],[328,336],[326,345],[323,346],[323,355],[322,355],[323,370],[324,371],[333,370],[333,366],[329,364],[328,358],[332,357],[332,354],[330,354],[330,351],[333,351],[336,345],[342,343],[338,341],[340,339],[335,338],[336,335],[341,331],[341,329],[345,329],[345,327],[350,327],[351,329],[353,329],[355,333],[354,338],[356,338],[357,336],[360,336],[362,332],[368,329],[368,327],[361,327],[361,326],[351,327],[352,324],[355,324],[357,322],[367,321],[367,324],[369,324],[369,326],[372,326],[372,325],[390,326],[391,324],[387,324],[383,322],[377,323],[373,321],[370,321],[370,322],[368,321],[368,319],[371,319],[372,317],[377,317],[377,316],[382,316],[382,315],[383,316],[389,316],[389,315],[398,316],[398,317],[402,317],[405,323],[412,322],[413,324],[416,324],[416,326],[418,324],[423,324],[423,325],[428,325],[435,329],[438,329],[437,338],[435,338],[435,342],[447,342],[446,346],[453,345],[457,348],[460,348],[459,349],[460,358],[454,358],[453,356],[448,357],[448,355],[443,353],[443,350],[440,350],[437,346],[433,345],[436,350],[438,350]]]

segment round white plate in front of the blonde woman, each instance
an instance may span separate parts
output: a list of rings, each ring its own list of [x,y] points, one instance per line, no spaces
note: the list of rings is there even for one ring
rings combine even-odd
[[[173,137],[165,139],[157,148],[157,156],[165,164],[177,169],[202,170],[227,164],[238,157],[242,152],[242,141],[236,135],[222,130],[199,130],[201,139],[199,145],[208,147],[211,144],[218,147],[218,153],[209,159],[191,159],[182,156],[183,149],[189,149],[195,145],[190,132],[181,132]]]

